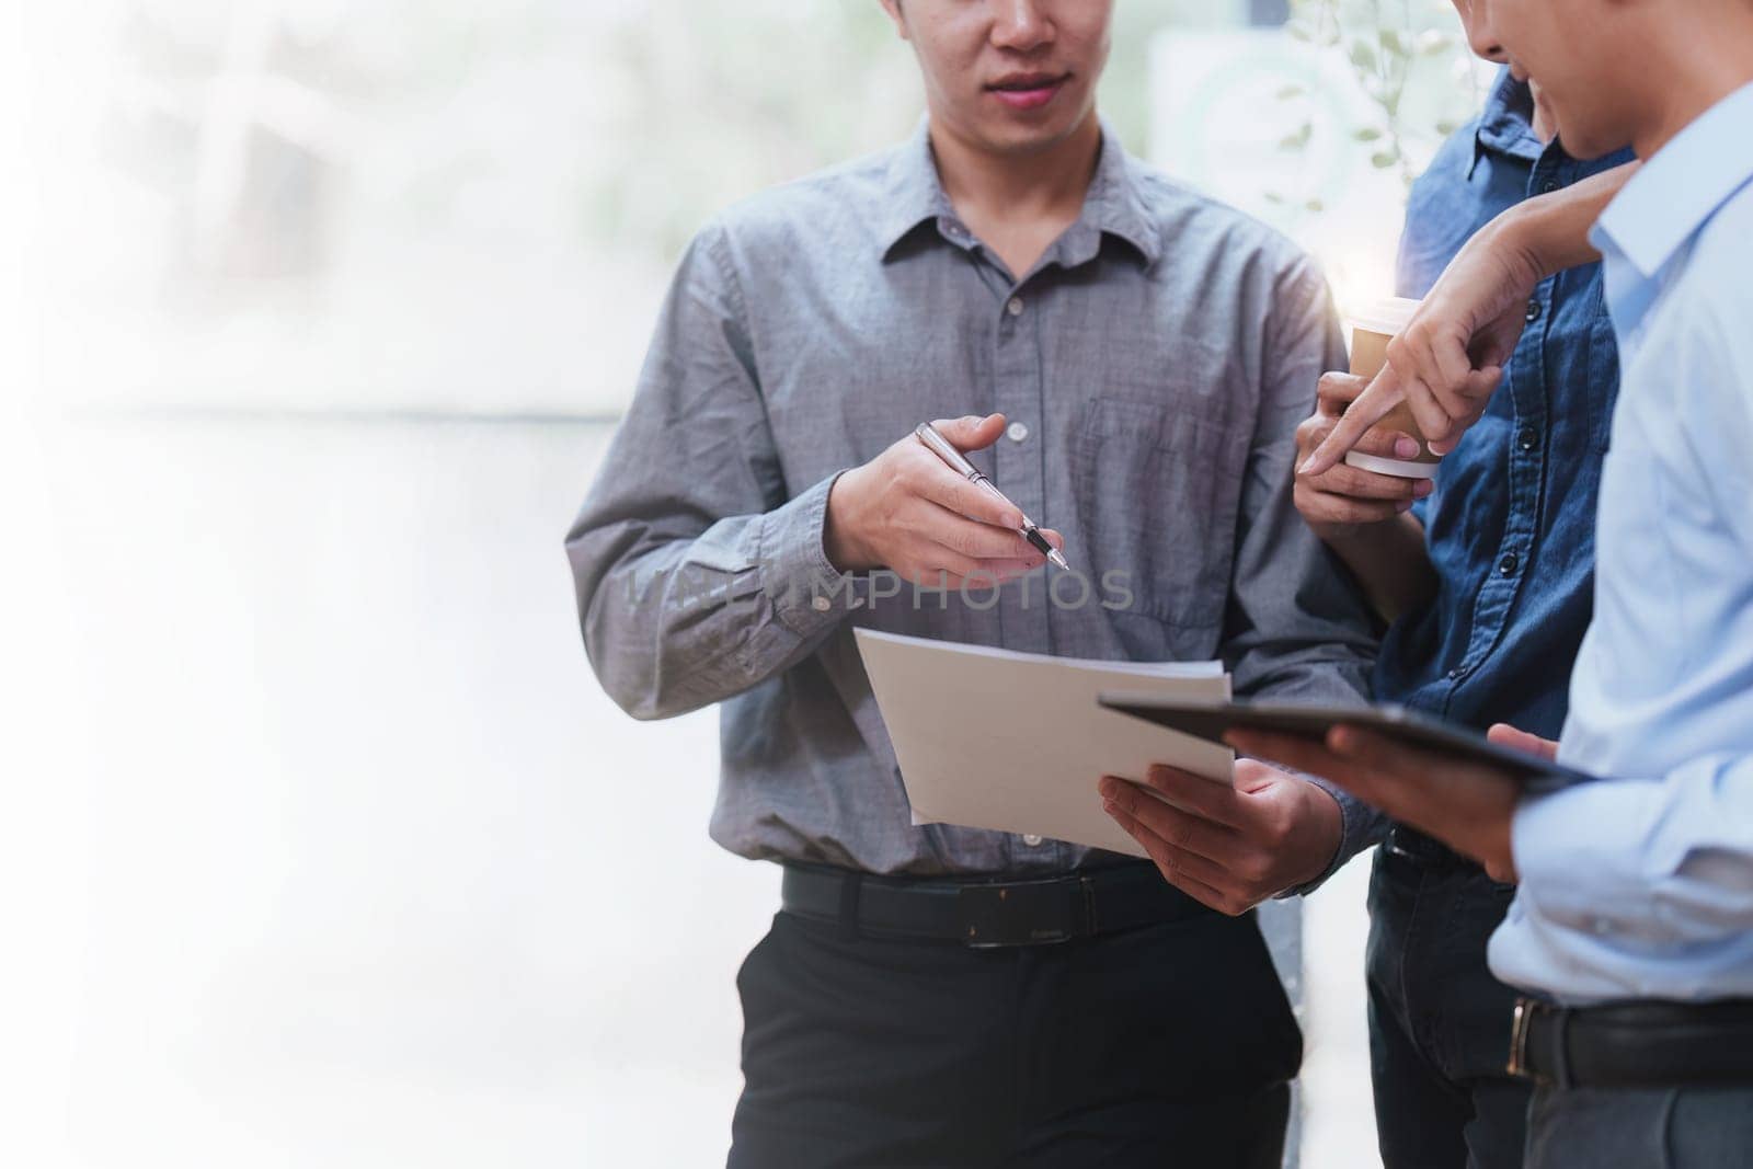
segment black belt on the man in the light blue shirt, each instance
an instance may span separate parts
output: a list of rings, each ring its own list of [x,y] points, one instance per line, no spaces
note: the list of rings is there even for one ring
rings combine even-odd
[[[1753,1085],[1753,1001],[1558,1008],[1518,999],[1509,1074],[1562,1088]]]

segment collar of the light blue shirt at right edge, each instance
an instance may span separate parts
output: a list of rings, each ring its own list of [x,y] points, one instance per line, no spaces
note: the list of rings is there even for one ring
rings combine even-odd
[[[1753,179],[1753,84],[1681,130],[1632,175],[1590,231],[1653,280],[1716,209]]]

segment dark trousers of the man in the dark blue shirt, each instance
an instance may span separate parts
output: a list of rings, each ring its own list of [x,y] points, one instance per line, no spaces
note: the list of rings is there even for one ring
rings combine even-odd
[[[1504,1073],[1515,992],[1485,943],[1515,889],[1402,829],[1369,880],[1369,1062],[1385,1169],[1522,1164],[1530,1088]]]

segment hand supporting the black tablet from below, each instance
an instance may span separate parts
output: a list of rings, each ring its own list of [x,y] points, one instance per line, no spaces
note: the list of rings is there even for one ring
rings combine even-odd
[[[1457,762],[1346,726],[1332,727],[1325,743],[1257,731],[1232,731],[1224,738],[1236,750],[1332,780],[1395,820],[1473,857],[1492,880],[1516,880],[1509,822],[1522,789],[1497,768]],[[1502,724],[1494,726],[1488,738],[1546,759],[1558,754],[1551,740]]]

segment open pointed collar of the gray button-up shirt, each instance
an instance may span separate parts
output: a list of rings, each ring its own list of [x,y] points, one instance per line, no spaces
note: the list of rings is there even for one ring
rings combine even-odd
[[[1073,265],[1094,258],[1103,235],[1125,240],[1138,249],[1146,263],[1157,261],[1162,252],[1162,235],[1145,214],[1141,181],[1143,175],[1138,165],[1127,158],[1118,135],[1108,123],[1103,123],[1096,175],[1083,196],[1083,212],[1061,242],[1062,263]],[[943,191],[943,181],[938,177],[938,165],[931,152],[929,123],[920,119],[919,130],[896,151],[889,165],[887,212],[878,237],[884,259],[927,219],[940,221],[940,230],[957,223],[955,207]]]

